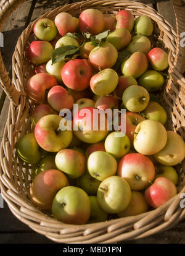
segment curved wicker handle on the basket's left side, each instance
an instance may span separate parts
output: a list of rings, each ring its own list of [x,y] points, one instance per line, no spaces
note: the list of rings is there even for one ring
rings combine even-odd
[[[4,24],[6,18],[19,6],[21,2],[25,0],[4,0],[0,5],[0,32],[2,30],[2,25]],[[14,105],[19,105],[20,92],[14,87],[11,82],[9,74],[7,73],[4,62],[2,61],[1,51],[0,51],[0,83],[1,87],[8,96],[9,100],[14,103]]]

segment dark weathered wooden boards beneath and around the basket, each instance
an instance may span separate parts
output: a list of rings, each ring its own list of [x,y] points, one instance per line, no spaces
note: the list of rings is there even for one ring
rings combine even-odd
[[[138,0],[139,1],[139,0]],[[23,3],[10,15],[3,27],[4,33],[4,48],[1,48],[2,57],[6,69],[11,70],[11,56],[17,43],[17,38],[23,29],[30,21],[35,20],[44,12],[54,9],[61,4],[68,4],[70,2],[77,2],[76,0],[68,1],[50,1],[50,0],[29,0]],[[160,14],[168,20],[173,27],[175,27],[175,17],[173,14],[173,7],[170,1],[155,1],[142,0],[144,4],[155,7]],[[12,39],[14,38],[14,39]],[[5,99],[5,101],[3,101]],[[4,104],[3,104],[4,103]],[[2,111],[1,111],[2,105]],[[0,89],[0,141],[7,118],[7,111],[9,108],[9,100]],[[155,234],[144,239],[136,241],[128,241],[126,243],[132,244],[177,244],[185,243],[185,221],[178,223],[175,228],[165,231],[161,234]],[[4,208],[0,208],[0,244],[47,244],[54,243],[35,231],[32,231],[27,225],[17,220],[4,202]],[[125,242],[123,242],[125,243]]]

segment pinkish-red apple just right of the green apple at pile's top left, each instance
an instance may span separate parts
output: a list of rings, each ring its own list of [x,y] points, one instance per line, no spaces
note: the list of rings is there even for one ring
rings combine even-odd
[[[75,19],[67,12],[57,14],[54,23],[62,36],[66,35],[68,32],[74,33],[76,31]]]

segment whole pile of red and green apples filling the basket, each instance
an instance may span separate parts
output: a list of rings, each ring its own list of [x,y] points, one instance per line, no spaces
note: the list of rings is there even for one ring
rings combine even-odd
[[[17,155],[36,164],[31,201],[55,219],[84,224],[133,216],[176,195],[173,166],[183,161],[185,145],[165,129],[167,113],[154,97],[165,82],[168,53],[153,47],[153,30],[149,17],[135,19],[127,10],[86,9],[78,18],[61,12],[54,22],[35,23],[27,48],[35,75],[26,85],[36,105],[34,132],[20,138]],[[84,110],[93,123],[94,109],[123,108],[125,134],[82,122]],[[60,129],[64,109],[80,129]]]

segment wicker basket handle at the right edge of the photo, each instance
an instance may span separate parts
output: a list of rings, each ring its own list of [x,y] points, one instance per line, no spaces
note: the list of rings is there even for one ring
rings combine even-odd
[[[185,0],[171,0],[175,11],[177,47],[175,62],[176,69],[183,74],[185,72]]]

